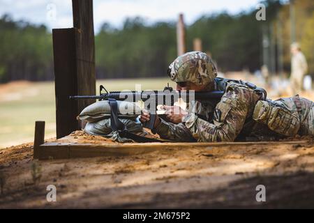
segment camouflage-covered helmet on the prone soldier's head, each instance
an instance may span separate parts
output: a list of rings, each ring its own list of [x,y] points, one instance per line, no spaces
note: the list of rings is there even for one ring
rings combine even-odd
[[[168,75],[174,82],[193,82],[207,85],[214,82],[217,68],[211,58],[203,52],[187,52],[178,56],[168,68]]]

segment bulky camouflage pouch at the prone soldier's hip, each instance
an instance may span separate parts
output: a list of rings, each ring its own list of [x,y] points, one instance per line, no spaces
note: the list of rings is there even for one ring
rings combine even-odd
[[[264,123],[270,130],[285,136],[296,135],[301,125],[297,112],[277,107],[264,100],[255,105],[253,120]]]

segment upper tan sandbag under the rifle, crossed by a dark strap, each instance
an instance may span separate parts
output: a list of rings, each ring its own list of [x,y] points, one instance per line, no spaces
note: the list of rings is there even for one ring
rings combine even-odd
[[[139,106],[134,102],[117,101],[119,118],[127,118],[135,120],[141,114]],[[77,119],[84,120],[89,123],[110,118],[110,105],[107,100],[100,100],[83,109]]]

